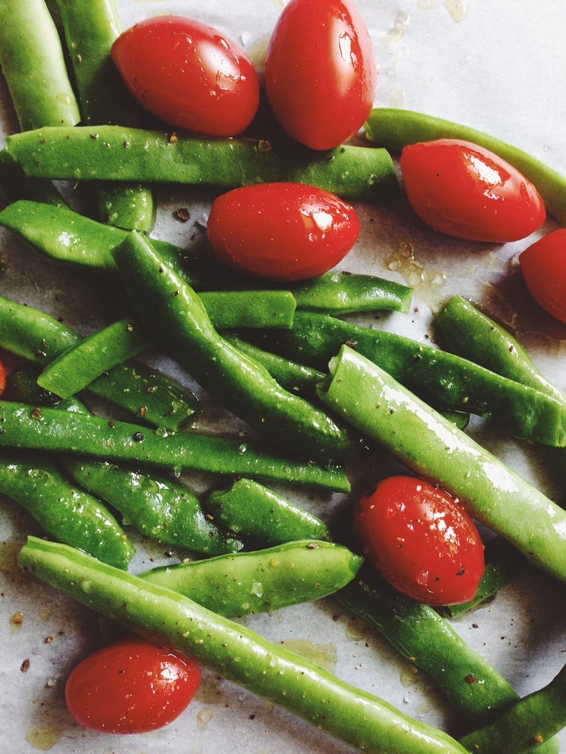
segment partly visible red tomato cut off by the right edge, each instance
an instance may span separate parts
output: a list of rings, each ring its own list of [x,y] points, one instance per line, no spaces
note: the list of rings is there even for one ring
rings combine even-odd
[[[531,296],[552,317],[566,322],[566,228],[558,228],[519,255]]]

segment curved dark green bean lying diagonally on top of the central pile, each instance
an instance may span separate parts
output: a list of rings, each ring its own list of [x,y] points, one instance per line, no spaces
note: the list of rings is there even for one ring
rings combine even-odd
[[[115,250],[130,303],[150,335],[195,380],[269,440],[317,461],[352,458],[356,443],[325,411],[285,391],[217,333],[198,294],[136,231]]]

